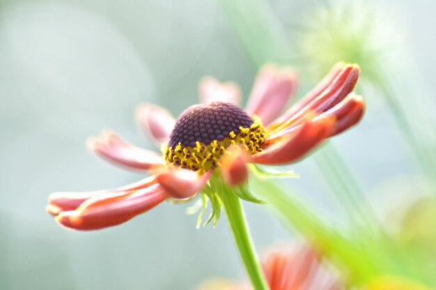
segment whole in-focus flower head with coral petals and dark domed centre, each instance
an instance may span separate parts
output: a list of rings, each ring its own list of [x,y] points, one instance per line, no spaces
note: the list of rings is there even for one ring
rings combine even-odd
[[[232,82],[201,79],[201,105],[175,120],[156,105],[141,105],[137,120],[162,155],[133,146],[114,132],[91,137],[88,146],[102,158],[151,175],[112,190],[55,192],[47,211],[65,227],[112,227],[148,211],[166,199],[190,199],[208,188],[213,174],[229,186],[248,177],[247,163],[296,162],[328,137],[355,125],[364,100],[352,93],[359,77],[354,64],[338,63],[305,98],[283,112],[297,87],[290,68],[264,66],[246,111],[238,107],[240,89]]]

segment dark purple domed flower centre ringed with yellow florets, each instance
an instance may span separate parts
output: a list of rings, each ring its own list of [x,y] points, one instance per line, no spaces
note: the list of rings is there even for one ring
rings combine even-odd
[[[262,151],[266,132],[260,120],[227,102],[195,105],[183,112],[165,148],[170,165],[205,172],[220,165],[228,146],[250,153]]]

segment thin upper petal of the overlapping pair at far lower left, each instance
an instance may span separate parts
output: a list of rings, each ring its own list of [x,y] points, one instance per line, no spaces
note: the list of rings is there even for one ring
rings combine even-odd
[[[111,190],[95,190],[88,192],[54,192],[49,195],[49,205],[46,210],[51,215],[58,215],[61,211],[73,211],[78,208],[84,201],[91,199],[92,197],[107,196],[109,193],[125,192],[131,190],[139,190],[141,188],[147,188],[150,185],[156,183],[155,176],[149,176],[141,181],[124,185],[120,188],[114,188]]]

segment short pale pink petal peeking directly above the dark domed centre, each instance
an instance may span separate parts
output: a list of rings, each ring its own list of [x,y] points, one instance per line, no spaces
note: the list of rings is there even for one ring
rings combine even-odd
[[[198,83],[198,95],[202,104],[231,102],[240,105],[241,89],[234,82],[221,83],[214,77],[203,77]]]

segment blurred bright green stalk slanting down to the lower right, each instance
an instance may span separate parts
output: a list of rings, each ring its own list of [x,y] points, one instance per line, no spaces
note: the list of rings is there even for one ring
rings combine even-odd
[[[339,233],[289,190],[285,192],[277,180],[273,182],[253,172],[250,183],[251,188],[256,188],[256,196],[267,201],[291,230],[302,233],[322,254],[332,258],[336,266],[344,267],[352,284],[365,284],[372,277],[386,273],[435,284],[434,273],[416,268],[422,261],[403,250],[390,236],[359,229]]]

